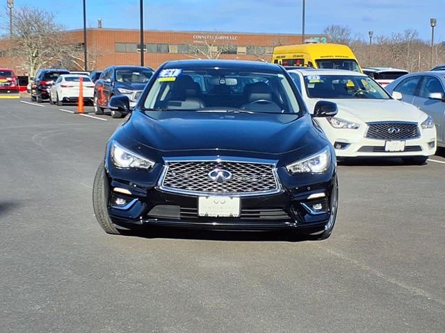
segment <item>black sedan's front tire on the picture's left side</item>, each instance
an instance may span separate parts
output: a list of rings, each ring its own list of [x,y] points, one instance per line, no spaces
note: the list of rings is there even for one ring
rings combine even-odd
[[[97,223],[107,234],[120,234],[108,215],[108,182],[105,179],[105,167],[104,162],[102,162],[96,171],[95,181],[92,185],[92,208]]]

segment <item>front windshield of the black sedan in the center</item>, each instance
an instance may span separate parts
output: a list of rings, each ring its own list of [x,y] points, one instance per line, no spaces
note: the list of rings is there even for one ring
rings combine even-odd
[[[145,110],[299,113],[284,74],[229,68],[163,69],[154,81]]]

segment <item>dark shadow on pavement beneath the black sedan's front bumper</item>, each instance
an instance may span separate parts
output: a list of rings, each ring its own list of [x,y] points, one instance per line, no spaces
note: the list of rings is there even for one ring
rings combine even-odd
[[[272,231],[226,231],[226,230],[199,230],[188,228],[166,228],[147,226],[140,230],[122,232],[127,236],[143,237],[148,239],[191,239],[202,241],[311,241],[310,236],[298,234],[294,230]]]

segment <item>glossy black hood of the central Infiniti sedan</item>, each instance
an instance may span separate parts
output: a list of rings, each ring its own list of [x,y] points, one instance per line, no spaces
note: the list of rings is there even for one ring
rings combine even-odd
[[[224,155],[239,151],[279,155],[303,150],[320,133],[309,114],[243,114],[227,112],[136,111],[124,125],[124,132],[139,144],[162,151],[163,155],[209,153]],[[194,151],[194,152],[192,152]],[[165,153],[172,154],[165,154]],[[184,154],[177,154],[184,155]]]

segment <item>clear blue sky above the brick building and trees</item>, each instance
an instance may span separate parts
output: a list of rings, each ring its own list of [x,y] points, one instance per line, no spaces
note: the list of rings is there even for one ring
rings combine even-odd
[[[86,1],[88,26],[97,26],[99,17],[104,28],[139,26],[139,0]],[[82,28],[81,0],[15,0],[23,5],[56,12],[68,29]],[[301,33],[301,8],[302,0],[145,0],[145,28]],[[306,0],[306,12],[308,34],[345,24],[366,38],[369,30],[390,35],[414,28],[428,40],[430,17],[436,17],[436,40],[445,40],[444,0]]]

